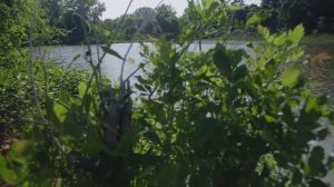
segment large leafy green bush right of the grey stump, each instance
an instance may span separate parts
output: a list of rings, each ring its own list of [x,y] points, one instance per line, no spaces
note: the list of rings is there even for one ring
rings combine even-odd
[[[311,152],[307,142],[318,138],[313,130],[330,116],[322,99],[305,90],[295,65],[303,28],[282,36],[259,30],[266,43],[252,47],[257,59],[222,45],[180,59],[171,43],[157,42],[149,55],[153,71],[138,79],[149,88],[137,88],[145,120],[159,139],[145,152],[167,160],[144,180],[166,176],[166,168],[176,175],[169,186],[323,184],[317,180],[328,170],[318,165],[323,150]],[[283,36],[288,39],[276,43]],[[287,68],[281,76],[282,66]],[[145,97],[150,90],[154,97]]]

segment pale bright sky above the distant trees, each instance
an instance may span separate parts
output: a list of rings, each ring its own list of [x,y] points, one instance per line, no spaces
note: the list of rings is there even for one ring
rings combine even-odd
[[[114,19],[121,16],[127,9],[130,0],[100,0],[100,2],[105,2],[107,6],[107,11],[104,12],[102,19]],[[155,8],[160,0],[134,0],[129,13],[134,12],[136,9],[140,7],[150,7]],[[245,0],[245,3],[256,3],[259,4],[261,0]],[[170,4],[177,12],[177,16],[183,14],[185,8],[188,6],[187,0],[164,0],[164,3]]]

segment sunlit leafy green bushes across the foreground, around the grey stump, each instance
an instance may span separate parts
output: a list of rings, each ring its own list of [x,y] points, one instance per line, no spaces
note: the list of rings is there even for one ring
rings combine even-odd
[[[136,99],[127,81],[36,75],[38,89],[40,78],[57,94],[38,98],[42,112],[0,156],[0,176],[16,186],[326,186],[333,159],[310,141],[328,135],[333,111],[305,88],[302,26],[282,35],[257,27],[265,42],[247,45],[252,56],[224,42],[188,50],[232,8],[190,3],[202,27],[186,28],[178,49],[166,39],[154,51],[144,45],[149,68],[141,66]]]

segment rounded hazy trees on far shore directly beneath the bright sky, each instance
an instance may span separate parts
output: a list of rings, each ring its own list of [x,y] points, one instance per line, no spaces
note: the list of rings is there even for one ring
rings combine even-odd
[[[114,35],[114,41],[131,41],[137,32],[136,39],[148,40],[161,36],[174,39],[180,30],[176,11],[167,4],[156,9],[143,7],[125,17],[106,19],[104,24]]]

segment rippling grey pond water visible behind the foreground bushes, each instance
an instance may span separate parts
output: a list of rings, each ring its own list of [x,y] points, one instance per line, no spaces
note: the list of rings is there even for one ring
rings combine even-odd
[[[208,50],[215,47],[215,42],[204,42],[202,45],[203,50]],[[122,57],[126,55],[130,43],[115,43],[112,45],[112,49],[117,51]],[[228,48],[234,49],[247,49],[245,42],[229,42],[227,45]],[[310,55],[310,57],[314,57],[320,53],[328,53],[334,57],[334,42],[315,42],[315,43],[304,43],[305,53]],[[98,53],[101,53],[101,50],[97,50],[97,46],[91,46],[92,50],[92,59],[97,62]],[[190,51],[198,51],[198,43],[193,43],[189,47]],[[89,63],[85,59],[85,53],[87,51],[86,46],[55,46],[55,47],[42,47],[36,50],[38,57],[49,60],[55,60],[58,63],[61,63],[68,68],[77,68],[77,69],[89,69]],[[125,63],[125,77],[129,76],[134,72],[140,62],[144,62],[145,59],[139,55],[141,51],[139,43],[134,43],[131,50],[128,53],[128,57],[131,60],[126,61]],[[76,56],[80,56],[75,61],[73,58]],[[128,59],[129,59],[128,58]],[[121,60],[107,55],[101,65],[101,71],[111,80],[117,80],[120,76],[120,67]],[[323,61],[321,63],[316,63],[315,66],[308,67],[306,69],[307,79],[312,82],[312,89],[316,94],[325,94],[330,101],[334,104],[334,58]],[[140,71],[137,73],[141,73]],[[134,79],[132,79],[134,80]]]

